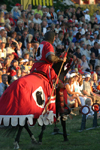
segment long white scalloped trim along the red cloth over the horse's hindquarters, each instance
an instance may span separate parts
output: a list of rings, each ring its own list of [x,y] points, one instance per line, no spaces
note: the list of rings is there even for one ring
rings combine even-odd
[[[0,124],[3,124],[4,126],[24,126],[26,118],[28,119],[28,122],[30,125],[33,124],[33,118],[34,115],[0,115]]]

